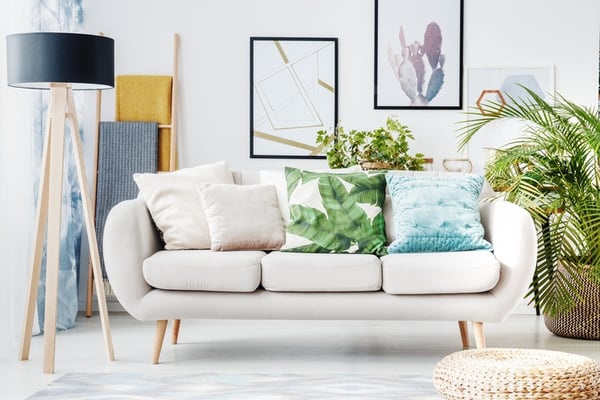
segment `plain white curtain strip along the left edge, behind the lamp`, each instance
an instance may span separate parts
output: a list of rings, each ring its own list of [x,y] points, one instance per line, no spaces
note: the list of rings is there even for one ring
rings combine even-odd
[[[29,1],[11,0],[0,11],[0,358],[16,357],[25,310],[35,204],[31,119],[38,93],[7,86],[5,36],[31,28],[30,9]]]

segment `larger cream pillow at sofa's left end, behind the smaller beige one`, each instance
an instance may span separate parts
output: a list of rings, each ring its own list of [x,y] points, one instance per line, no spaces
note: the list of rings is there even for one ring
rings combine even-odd
[[[158,174],[134,174],[167,250],[208,249],[210,236],[196,183],[233,184],[226,161]]]

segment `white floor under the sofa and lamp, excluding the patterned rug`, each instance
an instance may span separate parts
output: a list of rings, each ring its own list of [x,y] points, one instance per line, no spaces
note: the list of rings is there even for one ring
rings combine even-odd
[[[150,364],[154,324],[111,313],[117,361],[107,362],[98,316],[80,317],[60,332],[56,373],[42,373],[42,337],[29,361],[0,359],[0,398],[24,399],[68,372],[282,372],[431,374],[444,356],[461,350],[455,322],[183,321],[180,344],[166,340],[161,363]],[[169,327],[170,328],[170,327]],[[513,315],[487,324],[488,347],[540,348],[600,360],[600,341],[559,338],[543,319]]]

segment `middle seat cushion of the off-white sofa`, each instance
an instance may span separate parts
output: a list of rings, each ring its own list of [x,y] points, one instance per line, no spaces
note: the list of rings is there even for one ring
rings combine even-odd
[[[381,262],[372,254],[285,253],[262,260],[262,285],[280,292],[367,292],[381,289]]]

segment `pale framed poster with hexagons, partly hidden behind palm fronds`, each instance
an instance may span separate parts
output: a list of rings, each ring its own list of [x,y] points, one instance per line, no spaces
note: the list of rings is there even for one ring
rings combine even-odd
[[[511,99],[525,98],[523,86],[546,100],[554,96],[554,67],[481,67],[467,69],[467,107],[469,112],[484,114],[482,104],[494,101],[510,104]],[[469,116],[469,119],[476,116]],[[497,149],[517,135],[521,135],[518,121],[503,121],[501,127],[482,129],[469,141],[467,157],[473,170],[484,171],[486,159]]]

